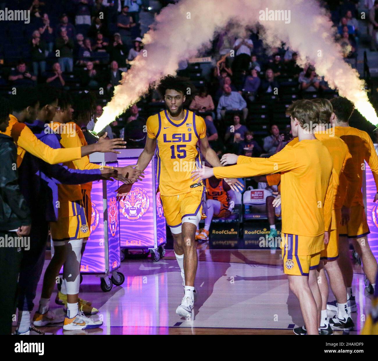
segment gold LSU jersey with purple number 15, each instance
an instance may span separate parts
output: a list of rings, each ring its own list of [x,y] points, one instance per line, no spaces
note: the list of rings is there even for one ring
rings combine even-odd
[[[167,110],[147,119],[147,135],[157,140],[156,172],[161,195],[190,192],[190,186],[195,183],[191,172],[200,163],[197,142],[206,136],[206,125],[203,118],[195,113],[189,110],[184,110],[184,113],[181,120],[170,119]]]

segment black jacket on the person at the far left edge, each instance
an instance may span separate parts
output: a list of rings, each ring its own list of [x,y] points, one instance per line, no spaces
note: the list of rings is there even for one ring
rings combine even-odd
[[[0,134],[0,160],[0,230],[10,231],[29,225],[31,218],[18,183],[17,147],[5,134]]]

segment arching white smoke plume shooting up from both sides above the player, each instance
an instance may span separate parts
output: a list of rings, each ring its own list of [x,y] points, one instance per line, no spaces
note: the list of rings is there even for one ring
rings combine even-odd
[[[264,20],[263,15],[268,17],[272,10],[282,11],[281,15],[286,11],[290,22],[278,17]],[[145,56],[139,55],[124,73],[94,131],[101,131],[138,101],[150,84],[175,74],[181,60],[198,55],[198,50],[209,45],[215,33],[229,22],[237,24],[240,33],[246,26],[262,25],[266,45],[280,46],[281,41],[285,42],[299,54],[299,65],[313,64],[330,87],[336,87],[341,96],[353,101],[368,121],[378,123],[364,81],[344,62],[341,48],[334,40],[336,28],[316,0],[181,0],[156,16],[143,38]]]

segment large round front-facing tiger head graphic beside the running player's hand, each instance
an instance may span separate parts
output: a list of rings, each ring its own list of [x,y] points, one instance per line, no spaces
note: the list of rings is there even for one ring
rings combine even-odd
[[[136,220],[147,212],[150,207],[150,199],[147,191],[142,188],[135,187],[130,190],[123,201],[119,202],[122,214],[131,220]]]

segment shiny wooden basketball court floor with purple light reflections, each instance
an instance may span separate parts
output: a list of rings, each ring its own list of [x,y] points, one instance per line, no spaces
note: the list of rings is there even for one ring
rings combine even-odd
[[[202,246],[206,248],[206,246]],[[84,276],[80,296],[99,308],[101,328],[65,332],[62,325],[43,327],[54,334],[237,334],[294,335],[293,328],[303,325],[299,303],[289,291],[283,274],[280,251],[275,254],[260,250],[198,249],[195,320],[186,321],[175,310],[183,297],[183,285],[173,251],[159,262],[147,259],[127,259],[121,269],[125,275],[122,286],[104,293],[99,278]],[[45,261],[45,267],[49,260]],[[35,310],[42,287],[40,280]],[[358,304],[352,314],[359,333],[363,317],[370,309],[370,299],[364,296],[363,273],[355,267],[353,291]],[[51,297],[51,310],[62,313],[62,307]],[[329,300],[334,299],[330,291]],[[329,313],[332,316],[332,313]],[[335,332],[342,334],[342,332]]]

